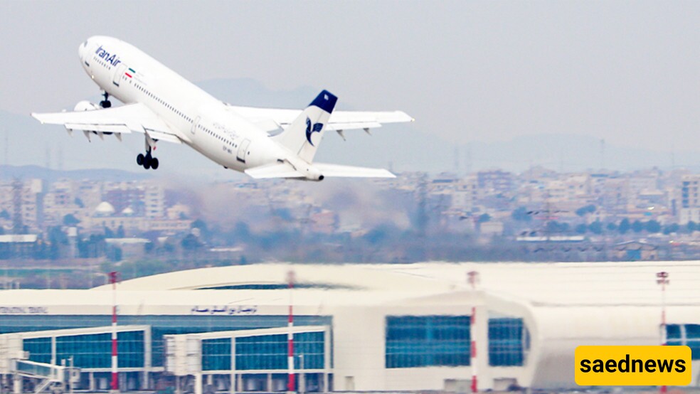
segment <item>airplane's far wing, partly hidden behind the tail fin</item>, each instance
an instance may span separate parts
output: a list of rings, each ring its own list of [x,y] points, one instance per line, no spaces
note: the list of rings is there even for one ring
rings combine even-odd
[[[237,107],[228,108],[236,114],[248,118],[267,132],[286,128],[297,119],[301,110],[277,110],[272,108]],[[334,111],[326,125],[327,130],[342,132],[351,129],[374,129],[385,123],[413,122],[413,118],[403,111]]]

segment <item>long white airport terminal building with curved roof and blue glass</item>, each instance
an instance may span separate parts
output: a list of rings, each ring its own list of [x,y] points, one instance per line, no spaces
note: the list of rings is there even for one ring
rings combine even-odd
[[[576,346],[659,344],[662,304],[699,384],[699,262],[258,264],[132,279],[115,294],[122,390],[285,391],[290,332],[299,391],[464,392],[472,361],[480,390],[576,388]],[[68,371],[76,389],[108,390],[112,297],[109,285],[1,291],[4,384],[34,391]]]

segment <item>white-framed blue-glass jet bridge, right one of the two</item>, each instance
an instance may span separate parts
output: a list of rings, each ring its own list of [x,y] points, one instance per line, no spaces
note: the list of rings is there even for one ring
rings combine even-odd
[[[332,384],[329,326],[166,335],[165,371],[175,377],[178,394],[285,391],[290,333],[295,341],[297,392],[329,392]]]

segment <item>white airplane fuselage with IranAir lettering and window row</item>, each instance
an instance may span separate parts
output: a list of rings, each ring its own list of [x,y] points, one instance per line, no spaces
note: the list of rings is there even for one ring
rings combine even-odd
[[[263,129],[129,43],[94,36],[79,54],[100,89],[124,104],[147,106],[182,142],[226,168],[297,161]]]

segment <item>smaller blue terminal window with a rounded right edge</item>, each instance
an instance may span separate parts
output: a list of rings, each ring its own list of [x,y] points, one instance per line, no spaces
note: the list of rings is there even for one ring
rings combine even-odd
[[[522,366],[528,349],[523,319],[489,319],[489,366]]]

